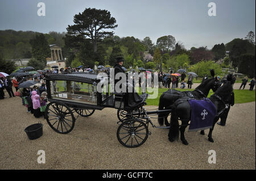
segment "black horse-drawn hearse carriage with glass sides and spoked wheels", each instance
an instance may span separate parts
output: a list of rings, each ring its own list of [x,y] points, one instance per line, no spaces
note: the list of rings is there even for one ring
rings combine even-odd
[[[102,87],[105,92],[97,91],[97,84],[100,81],[108,81],[108,86]],[[144,109],[147,94],[140,95],[141,100],[130,106],[127,93],[110,93],[109,84],[109,77],[97,79],[96,74],[47,74],[47,123],[55,132],[67,134],[74,128],[79,115],[88,117],[93,115],[95,110],[102,110],[105,107],[116,108],[119,119],[118,141],[129,148],[142,145],[150,134],[148,123],[155,127],[147,115],[163,111],[147,112]]]

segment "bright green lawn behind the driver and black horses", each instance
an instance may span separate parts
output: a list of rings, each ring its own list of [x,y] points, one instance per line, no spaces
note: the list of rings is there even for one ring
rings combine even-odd
[[[167,91],[166,88],[159,88],[158,89],[158,97],[156,99],[147,99],[147,105],[148,106],[158,106],[159,104],[159,98],[160,95],[162,95],[163,92]],[[193,91],[194,89],[175,89],[178,91]],[[213,94],[213,91],[210,90],[208,97]],[[247,102],[253,102],[255,101],[255,90],[249,91],[249,90],[234,90],[235,95],[235,104],[241,104],[241,103],[247,103]]]

